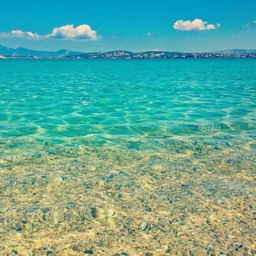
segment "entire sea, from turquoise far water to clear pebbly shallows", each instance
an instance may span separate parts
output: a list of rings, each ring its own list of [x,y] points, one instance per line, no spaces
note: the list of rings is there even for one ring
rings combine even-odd
[[[252,255],[255,74],[243,59],[1,60],[3,252]]]

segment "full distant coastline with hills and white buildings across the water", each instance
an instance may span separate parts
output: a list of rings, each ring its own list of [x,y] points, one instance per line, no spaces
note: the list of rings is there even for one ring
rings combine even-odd
[[[60,51],[35,51],[26,48],[9,48],[0,45],[0,59],[195,59],[195,58],[256,58],[256,49],[233,49],[219,52],[168,52],[168,51],[109,51],[109,52],[77,52],[61,49]]]

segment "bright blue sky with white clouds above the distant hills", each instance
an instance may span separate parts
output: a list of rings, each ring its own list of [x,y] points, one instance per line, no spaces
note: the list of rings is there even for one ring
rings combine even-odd
[[[82,52],[256,49],[256,1],[0,0],[0,44]]]

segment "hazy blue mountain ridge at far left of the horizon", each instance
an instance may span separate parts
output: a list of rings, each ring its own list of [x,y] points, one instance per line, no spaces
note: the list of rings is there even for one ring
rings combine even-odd
[[[50,52],[50,51],[34,51],[26,48],[9,48],[3,45],[0,45],[0,55],[3,56],[12,56],[12,55],[19,55],[19,56],[37,56],[37,57],[62,57],[62,56],[69,56],[69,55],[76,55],[82,54],[83,52],[78,51],[68,51],[66,49],[61,49],[57,52]]]

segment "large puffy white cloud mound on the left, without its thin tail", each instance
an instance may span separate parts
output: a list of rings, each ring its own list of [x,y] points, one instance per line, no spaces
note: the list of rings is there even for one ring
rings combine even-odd
[[[71,24],[52,29],[52,33],[47,35],[47,37],[71,40],[96,40],[97,34],[89,25],[84,24],[74,28],[74,25]]]

